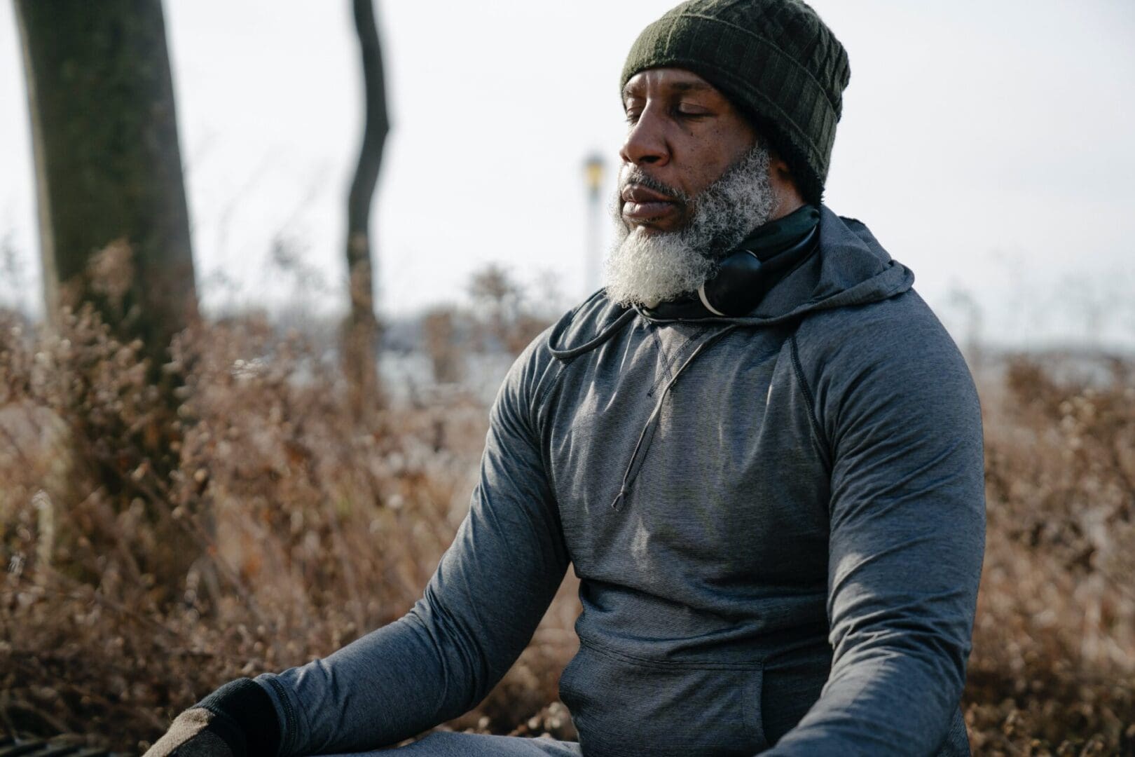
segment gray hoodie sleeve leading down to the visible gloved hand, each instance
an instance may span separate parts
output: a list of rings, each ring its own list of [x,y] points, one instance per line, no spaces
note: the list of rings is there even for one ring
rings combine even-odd
[[[423,597],[326,659],[257,679],[281,723],[281,757],[377,749],[456,717],[531,639],[568,552],[529,422],[530,359],[497,395],[469,514]]]

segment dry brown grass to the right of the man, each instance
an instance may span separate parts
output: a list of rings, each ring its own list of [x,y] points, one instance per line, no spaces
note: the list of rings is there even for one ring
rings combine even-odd
[[[983,387],[989,531],[966,690],[978,754],[1135,754],[1133,368],[1116,361],[1091,387],[1018,360]]]

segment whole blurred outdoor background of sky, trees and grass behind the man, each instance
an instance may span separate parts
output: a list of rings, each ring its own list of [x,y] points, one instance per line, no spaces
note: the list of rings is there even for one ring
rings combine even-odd
[[[599,286],[671,5],[5,3],[0,738],[138,751],[409,608],[504,371]],[[974,749],[1135,754],[1135,3],[812,5],[825,202],[982,394]],[[573,590],[448,727],[571,737]]]

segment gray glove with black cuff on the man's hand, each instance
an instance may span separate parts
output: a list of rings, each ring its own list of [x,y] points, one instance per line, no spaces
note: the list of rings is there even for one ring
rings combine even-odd
[[[279,721],[259,683],[229,681],[174,718],[143,757],[276,757]]]

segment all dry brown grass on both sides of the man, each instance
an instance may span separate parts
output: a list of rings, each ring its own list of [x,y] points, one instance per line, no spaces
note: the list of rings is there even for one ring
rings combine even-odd
[[[187,334],[176,354],[171,409],[90,314],[58,337],[0,323],[0,733],[136,751],[217,684],[401,616],[463,515],[476,402],[364,422],[327,362],[255,320]],[[984,394],[975,751],[1133,754],[1130,375],[1088,390],[1022,363]],[[555,697],[573,589],[451,727],[572,735]]]

